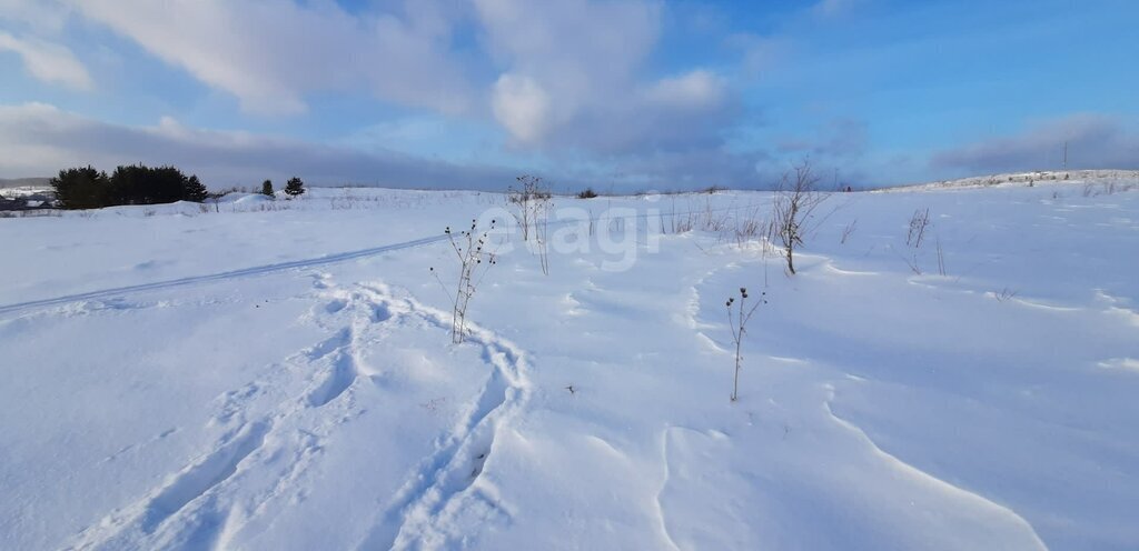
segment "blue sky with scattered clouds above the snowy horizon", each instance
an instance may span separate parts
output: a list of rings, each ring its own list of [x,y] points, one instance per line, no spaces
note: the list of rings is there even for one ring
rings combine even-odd
[[[1133,0],[0,0],[0,178],[769,188],[1139,168]]]

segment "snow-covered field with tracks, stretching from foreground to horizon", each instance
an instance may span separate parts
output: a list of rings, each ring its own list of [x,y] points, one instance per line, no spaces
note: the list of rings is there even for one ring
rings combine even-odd
[[[834,194],[795,276],[767,192],[558,198],[459,345],[499,195],[0,220],[0,548],[1139,549],[1123,188]]]

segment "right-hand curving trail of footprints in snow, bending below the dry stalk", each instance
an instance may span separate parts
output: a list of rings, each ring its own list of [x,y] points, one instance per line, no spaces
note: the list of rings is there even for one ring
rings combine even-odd
[[[367,288],[377,303],[405,311],[451,330],[451,314],[404,297],[395,298],[385,287]],[[528,367],[511,342],[467,323],[465,343],[482,347],[483,360],[492,365],[478,396],[465,419],[442,436],[435,452],[420,461],[388,505],[379,513],[358,549],[439,548],[469,536],[457,520],[462,515],[499,511],[493,486],[482,476],[494,450],[498,430],[518,414],[530,396]]]

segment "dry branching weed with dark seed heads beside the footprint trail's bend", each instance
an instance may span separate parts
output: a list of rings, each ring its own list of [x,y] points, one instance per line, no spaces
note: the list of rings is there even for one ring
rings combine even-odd
[[[490,231],[494,229],[495,221],[491,221],[491,227],[486,231],[478,231],[478,222],[475,220],[470,221],[470,229],[462,230],[458,233],[451,231],[451,227],[444,230],[448,238],[451,241],[451,248],[454,249],[454,256],[459,261],[459,281],[453,295],[448,290],[446,285],[439,277],[439,271],[434,266],[431,268],[431,272],[435,276],[435,280],[439,285],[443,287],[443,291],[446,293],[448,298],[451,299],[451,342],[461,343],[467,335],[467,309],[470,306],[470,299],[475,296],[478,290],[478,285],[482,282],[483,278],[486,277],[486,272],[490,271],[491,266],[498,263],[494,253],[489,252],[486,247],[490,244]]]

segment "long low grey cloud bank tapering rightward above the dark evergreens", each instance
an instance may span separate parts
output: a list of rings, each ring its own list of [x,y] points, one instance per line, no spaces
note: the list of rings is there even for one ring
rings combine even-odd
[[[301,175],[317,184],[501,189],[513,170],[456,165],[393,151],[360,151],[246,132],[188,129],[173,118],[154,126],[93,121],[44,104],[0,106],[0,176],[55,174],[92,164],[173,164],[213,187],[252,186]]]

